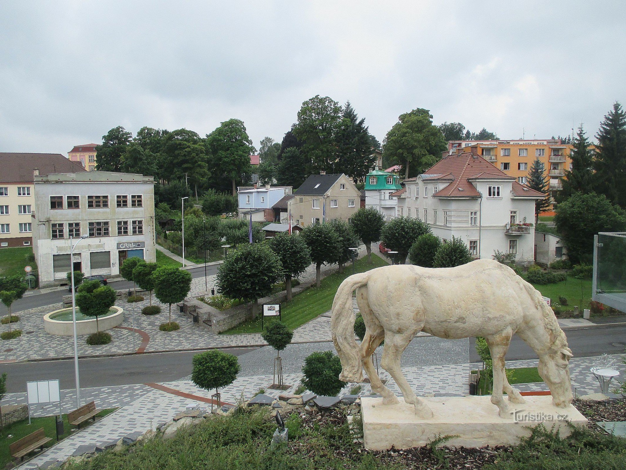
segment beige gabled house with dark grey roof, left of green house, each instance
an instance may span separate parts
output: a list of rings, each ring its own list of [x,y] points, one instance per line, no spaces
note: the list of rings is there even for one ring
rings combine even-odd
[[[349,222],[360,207],[361,192],[344,174],[310,175],[287,201],[287,217],[306,227],[333,219]]]

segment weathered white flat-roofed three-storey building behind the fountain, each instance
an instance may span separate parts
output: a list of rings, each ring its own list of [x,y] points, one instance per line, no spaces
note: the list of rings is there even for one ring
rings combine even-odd
[[[65,283],[71,269],[116,276],[126,258],[156,261],[153,177],[56,173],[36,176],[34,187],[33,250],[41,286]],[[71,239],[83,234],[89,237],[70,259]]]

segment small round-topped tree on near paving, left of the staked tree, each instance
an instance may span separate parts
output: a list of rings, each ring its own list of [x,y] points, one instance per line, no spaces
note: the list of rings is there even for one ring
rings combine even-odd
[[[217,349],[194,355],[192,364],[193,383],[205,390],[215,389],[215,394],[218,389],[232,384],[240,371],[236,356]]]

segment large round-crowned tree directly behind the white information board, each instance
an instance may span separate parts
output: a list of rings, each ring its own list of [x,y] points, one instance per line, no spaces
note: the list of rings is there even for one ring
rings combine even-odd
[[[232,299],[253,301],[257,316],[259,299],[272,293],[272,285],[283,278],[280,259],[265,244],[241,245],[228,253],[217,271],[218,291]]]

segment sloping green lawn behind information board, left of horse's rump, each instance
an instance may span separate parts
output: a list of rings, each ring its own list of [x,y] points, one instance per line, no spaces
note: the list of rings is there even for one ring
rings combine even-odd
[[[367,263],[367,258],[361,258],[356,262],[357,273],[369,271],[372,268],[388,266],[388,263],[376,254],[372,254],[372,264]],[[307,321],[313,320],[316,316],[331,310],[332,300],[335,298],[337,289],[341,282],[352,274],[352,264],[346,266],[342,274],[335,273],[322,279],[320,288],[310,287],[301,294],[294,296],[294,300],[282,304],[282,321],[289,330],[295,330],[298,326],[304,325]],[[224,332],[224,335],[235,335],[239,333],[260,333],[261,317],[249,320],[231,330]]]

